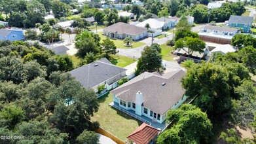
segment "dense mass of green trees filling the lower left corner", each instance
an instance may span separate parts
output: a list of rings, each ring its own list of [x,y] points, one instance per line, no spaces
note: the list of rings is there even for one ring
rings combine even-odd
[[[69,73],[66,56],[22,41],[0,41],[1,143],[98,143],[90,132],[99,126],[90,116],[98,111],[94,90]]]

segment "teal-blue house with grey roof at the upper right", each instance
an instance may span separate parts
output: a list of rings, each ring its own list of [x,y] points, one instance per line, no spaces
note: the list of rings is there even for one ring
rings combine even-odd
[[[230,16],[229,27],[239,27],[244,33],[251,32],[251,24],[253,24],[252,16]]]

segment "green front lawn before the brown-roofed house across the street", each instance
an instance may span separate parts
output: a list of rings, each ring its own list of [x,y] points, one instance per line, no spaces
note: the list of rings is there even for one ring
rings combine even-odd
[[[107,37],[101,35],[103,32],[99,32],[100,35],[100,43],[103,43],[103,39],[107,39]],[[134,42],[133,46],[124,46],[124,42],[119,40],[119,39],[111,39],[111,41],[113,41],[115,43],[115,45],[117,46],[117,48],[137,48],[139,46],[143,46],[146,45],[145,43],[142,42]]]

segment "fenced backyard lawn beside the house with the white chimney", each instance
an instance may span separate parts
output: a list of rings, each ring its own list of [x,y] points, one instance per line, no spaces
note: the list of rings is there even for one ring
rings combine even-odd
[[[126,137],[134,132],[142,122],[109,106],[112,101],[113,94],[105,94],[105,96],[99,98],[99,110],[94,113],[94,117],[91,120],[100,122],[101,128],[125,141]]]

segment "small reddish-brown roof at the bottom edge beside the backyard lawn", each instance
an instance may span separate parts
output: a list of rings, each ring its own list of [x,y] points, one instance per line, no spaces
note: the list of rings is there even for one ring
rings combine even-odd
[[[128,135],[128,139],[134,141],[136,144],[147,144],[158,135],[160,130],[149,126],[149,124],[141,124],[139,128],[134,130],[132,134]]]

